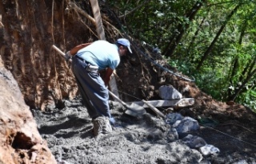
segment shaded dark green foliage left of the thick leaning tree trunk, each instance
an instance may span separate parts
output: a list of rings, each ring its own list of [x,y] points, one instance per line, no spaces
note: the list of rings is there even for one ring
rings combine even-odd
[[[110,0],[112,7],[118,6],[118,11],[122,14],[130,9],[135,9],[145,1],[123,1]],[[170,0],[149,0],[146,1],[132,14],[125,18],[129,33],[141,41],[146,41],[150,45],[165,45],[171,35],[177,34],[177,25],[190,23],[185,17],[186,11],[197,2],[193,1],[170,1]]]

